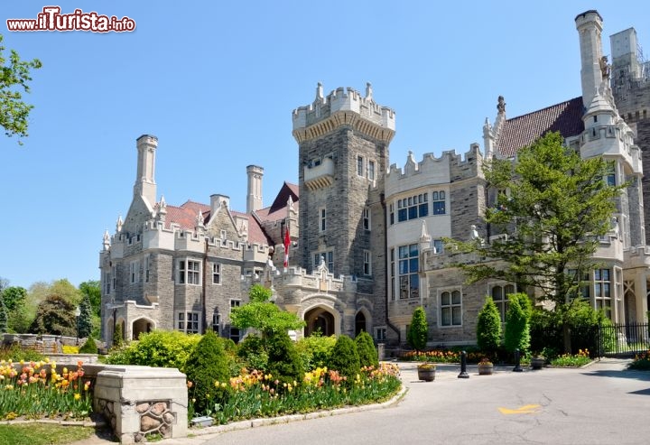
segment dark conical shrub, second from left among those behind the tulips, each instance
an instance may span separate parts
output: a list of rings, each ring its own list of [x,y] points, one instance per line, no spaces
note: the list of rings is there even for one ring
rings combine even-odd
[[[304,367],[295,344],[284,331],[278,331],[266,338],[268,350],[268,372],[281,382],[302,382]]]

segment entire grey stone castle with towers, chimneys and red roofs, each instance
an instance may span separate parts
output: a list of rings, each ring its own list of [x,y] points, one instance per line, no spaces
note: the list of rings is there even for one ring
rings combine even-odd
[[[514,158],[548,131],[559,131],[582,157],[606,158],[606,181],[627,184],[583,294],[612,320],[645,320],[647,64],[636,57],[634,29],[611,37],[609,65],[599,13],[579,14],[576,26],[581,96],[513,118],[499,97],[496,119],[483,127],[483,151],[471,144],[466,153],[426,153],[419,162],[409,153],[397,167],[388,155],[395,112],[376,103],[372,86],[365,94],[337,88],[325,95],[319,84],[313,102],[292,113],[299,184],[284,183],[270,207],[262,201],[264,169],[255,165],[246,169],[246,212],[230,209],[228,196],[218,194],[209,204],[158,200],[158,140],[139,137],[131,206],[115,233],[104,235],[99,258],[103,339],[110,342],[120,325],[126,339],[151,329],[213,329],[237,341],[245,333],[230,326],[230,310],[262,283],[276,304],[306,321],[296,337],[316,330],[354,337],[366,330],[376,341],[403,344],[422,305],[432,345],[471,343],[486,295],[505,317],[506,294],[515,285],[466,284],[453,264],[476,258],[445,252],[441,240],[503,236],[490,233],[482,219],[495,199],[482,163]]]

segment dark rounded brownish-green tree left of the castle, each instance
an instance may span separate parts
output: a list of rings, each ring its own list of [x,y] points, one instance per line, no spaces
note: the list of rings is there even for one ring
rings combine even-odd
[[[59,295],[50,295],[39,304],[30,332],[76,337],[76,321],[75,306]]]

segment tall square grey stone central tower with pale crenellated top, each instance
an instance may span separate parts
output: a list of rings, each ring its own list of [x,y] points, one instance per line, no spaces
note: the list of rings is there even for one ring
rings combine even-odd
[[[335,275],[352,275],[358,290],[385,297],[384,175],[395,112],[353,88],[327,97],[319,83],[311,105],[293,111],[299,144],[300,262],[324,258]]]

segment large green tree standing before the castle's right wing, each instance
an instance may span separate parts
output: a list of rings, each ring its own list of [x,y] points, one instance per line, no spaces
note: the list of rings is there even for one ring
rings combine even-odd
[[[519,289],[534,288],[562,312],[580,296],[580,277],[596,267],[598,238],[612,228],[615,199],[625,186],[609,186],[603,180],[607,162],[581,159],[559,133],[519,150],[516,162],[492,160],[484,172],[488,186],[501,190],[485,221],[493,234],[508,236],[489,243],[449,242],[503,262],[458,265],[469,283],[498,278]]]

